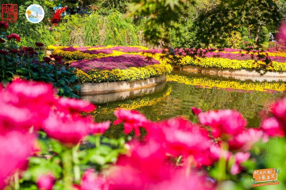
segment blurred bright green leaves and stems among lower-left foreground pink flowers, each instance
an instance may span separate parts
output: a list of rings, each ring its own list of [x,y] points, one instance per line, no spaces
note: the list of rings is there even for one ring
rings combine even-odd
[[[30,157],[29,167],[20,179],[21,189],[37,189],[35,185],[40,175],[51,174],[57,182],[53,189],[67,188],[65,176],[71,175],[75,183],[86,169],[94,167],[97,171],[117,161],[119,154],[125,153],[125,140],[108,139],[100,135],[90,135],[87,141],[72,148],[66,147],[55,139],[47,138],[40,132],[38,155]],[[74,172],[72,172],[74,171]],[[68,173],[67,173],[68,172]],[[70,172],[70,173],[69,173]],[[76,176],[77,175],[77,176]]]

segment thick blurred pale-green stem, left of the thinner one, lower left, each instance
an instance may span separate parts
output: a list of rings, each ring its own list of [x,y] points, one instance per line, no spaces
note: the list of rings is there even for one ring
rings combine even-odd
[[[72,149],[67,149],[63,152],[63,183],[64,189],[72,189]]]

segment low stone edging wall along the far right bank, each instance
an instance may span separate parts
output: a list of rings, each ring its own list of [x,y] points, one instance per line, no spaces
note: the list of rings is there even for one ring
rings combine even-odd
[[[258,72],[254,70],[246,69],[219,69],[219,68],[204,68],[200,66],[173,66],[174,70],[182,70],[184,72],[196,72],[196,73],[206,73],[212,75],[219,75],[229,77],[232,76],[239,80],[258,80],[258,81],[286,81],[286,72],[267,72],[261,76]]]

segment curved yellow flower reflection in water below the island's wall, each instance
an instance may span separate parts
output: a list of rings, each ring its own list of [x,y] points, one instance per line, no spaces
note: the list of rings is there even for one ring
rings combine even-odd
[[[112,113],[118,108],[124,108],[126,110],[135,110],[141,108],[142,106],[151,106],[152,104],[162,101],[165,97],[169,96],[171,90],[172,90],[171,86],[168,86],[166,92],[160,97],[144,96],[140,98],[125,100],[118,104],[108,104],[104,106],[98,106],[96,110],[88,114],[106,114],[106,113]]]

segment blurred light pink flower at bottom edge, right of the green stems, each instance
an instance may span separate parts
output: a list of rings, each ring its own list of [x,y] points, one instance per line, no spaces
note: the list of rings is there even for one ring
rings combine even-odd
[[[94,169],[88,169],[82,176],[80,190],[108,190],[109,183],[107,179],[94,173]]]

